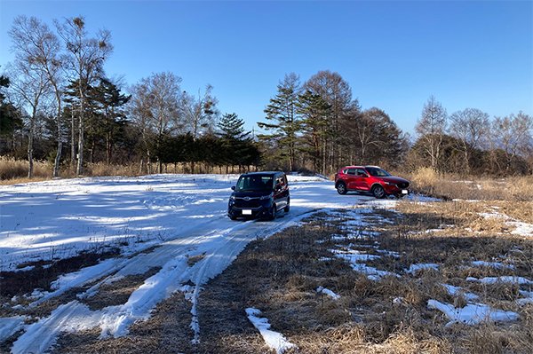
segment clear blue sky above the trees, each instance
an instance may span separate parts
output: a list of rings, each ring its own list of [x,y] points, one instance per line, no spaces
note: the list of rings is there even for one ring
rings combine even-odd
[[[19,14],[51,25],[83,15],[90,31],[113,35],[108,75],[136,83],[171,71],[187,91],[211,83],[220,111],[249,130],[283,75],[304,82],[323,69],[342,75],[362,108],[384,109],[411,133],[430,95],[449,114],[533,114],[532,1],[0,0],[2,66]]]

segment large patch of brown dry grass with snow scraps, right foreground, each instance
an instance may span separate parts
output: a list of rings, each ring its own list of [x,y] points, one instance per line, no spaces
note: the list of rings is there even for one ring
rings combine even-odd
[[[502,202],[502,206],[506,202]],[[380,270],[402,274],[371,281],[352,271],[346,262],[331,258],[331,248],[351,248],[378,255],[373,240],[330,240],[332,233],[346,232],[345,219],[317,215],[267,240],[246,248],[227,271],[205,288],[200,303],[203,326],[199,352],[265,352],[244,309],[256,307],[269,319],[272,329],[298,345],[300,353],[529,353],[533,349],[533,306],[519,307],[516,285],[482,285],[466,277],[533,276],[533,242],[489,225],[477,213],[489,204],[402,202],[401,213],[374,210],[366,215],[381,232],[379,248],[401,256],[383,256],[367,261]],[[503,208],[503,207],[502,207]],[[522,205],[523,208],[523,205]],[[376,223],[382,216],[392,224]],[[327,221],[326,221],[327,220]],[[465,227],[480,224],[477,232]],[[487,224],[483,224],[487,223]],[[481,225],[483,224],[483,225]],[[496,223],[497,224],[497,223]],[[501,224],[501,223],[500,223]],[[427,230],[441,229],[442,231]],[[353,231],[353,230],[352,230]],[[496,234],[495,232],[503,232]],[[520,252],[516,252],[520,249]],[[505,259],[501,259],[505,256]],[[322,257],[329,257],[323,261]],[[514,269],[475,267],[473,260],[500,260]],[[403,272],[410,264],[437,263],[438,271]],[[445,327],[440,311],[428,310],[429,299],[466,304],[463,295],[449,295],[442,283],[463,287],[480,295],[479,302],[497,309],[516,311],[513,323]],[[317,294],[327,287],[341,299]],[[523,289],[523,287],[522,287]],[[401,298],[400,302],[394,299]],[[207,301],[209,305],[203,303]],[[213,320],[213,318],[218,318]],[[236,325],[235,322],[236,321]],[[215,323],[214,323],[215,322]],[[227,328],[228,323],[231,328]],[[224,344],[219,345],[225,338]],[[213,342],[214,341],[214,342]]]

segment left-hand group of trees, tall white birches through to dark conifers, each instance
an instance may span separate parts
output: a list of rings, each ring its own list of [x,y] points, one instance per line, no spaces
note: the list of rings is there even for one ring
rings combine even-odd
[[[16,18],[9,31],[14,62],[0,78],[0,154],[53,162],[53,177],[69,165],[84,174],[86,162],[140,162],[146,173],[165,164],[250,169],[259,146],[236,114],[221,115],[213,88],[196,94],[181,78],[163,72],[124,83],[109,78],[104,63],[111,34],[90,34],[83,17],[54,21]],[[70,149],[65,149],[65,146]],[[155,163],[155,167],[153,164]]]

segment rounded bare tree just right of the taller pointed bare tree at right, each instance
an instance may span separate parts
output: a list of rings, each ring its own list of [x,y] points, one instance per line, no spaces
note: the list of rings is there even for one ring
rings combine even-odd
[[[466,108],[449,116],[449,132],[457,138],[458,146],[465,157],[466,173],[470,173],[470,156],[474,149],[481,147],[481,139],[490,127],[489,114],[476,108]]]

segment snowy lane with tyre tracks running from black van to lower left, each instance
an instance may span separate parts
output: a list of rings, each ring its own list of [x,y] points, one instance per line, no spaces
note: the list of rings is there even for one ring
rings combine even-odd
[[[26,332],[13,343],[12,353],[44,352],[52,347],[60,333],[77,332],[95,326],[101,328],[101,338],[127,334],[128,327],[133,322],[149,318],[150,311],[157,303],[180,289],[187,291],[183,284],[188,280],[195,284],[189,300],[193,303],[191,326],[195,331],[195,338],[192,341],[198,342],[200,326],[196,311],[203,284],[224,271],[251,240],[278,232],[312,212],[306,211],[293,217],[285,216],[287,219],[274,222],[275,224],[267,228],[265,228],[266,223],[249,221],[235,224],[222,231],[215,230],[183,239],[176,238],[164,242],[152,253],[141,253],[119,262],[114,275],[100,280],[81,297],[95,294],[104,283],[112,283],[126,275],[143,273],[154,266],[163,266],[163,268],[146,279],[123,305],[109,306],[99,311],[91,311],[88,306],[78,301],[60,305],[49,317],[27,326]],[[206,224],[207,228],[210,226],[211,223]],[[187,267],[187,254],[190,256],[205,254],[205,256],[192,267]]]

